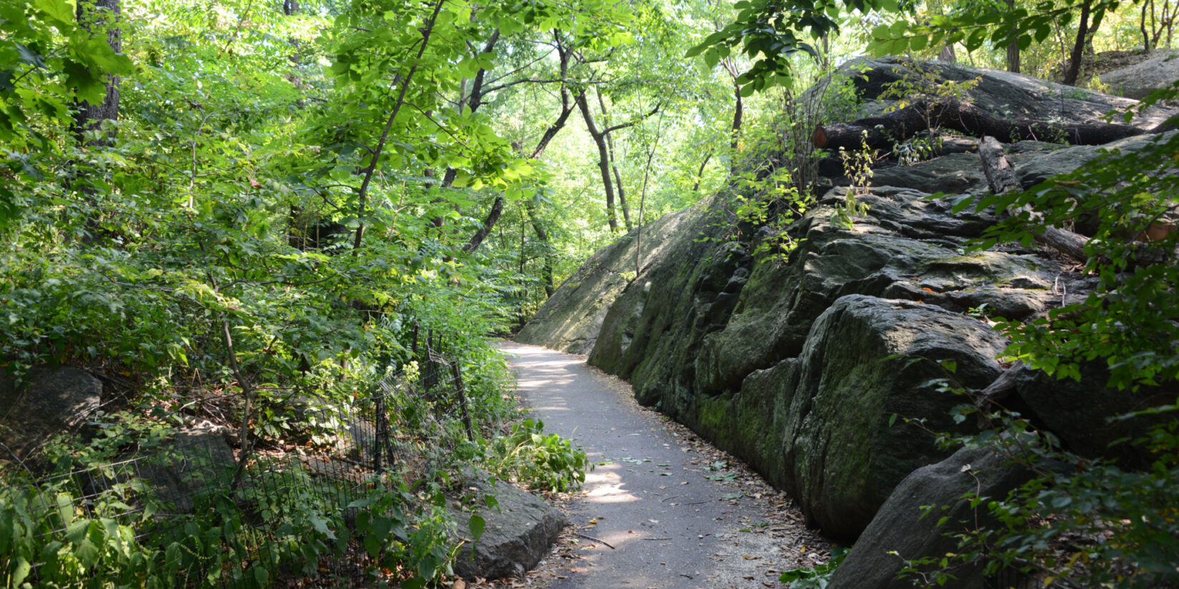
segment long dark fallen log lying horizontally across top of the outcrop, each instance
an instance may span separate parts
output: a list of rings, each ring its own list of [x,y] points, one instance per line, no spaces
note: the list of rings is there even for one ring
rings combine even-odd
[[[824,150],[858,150],[865,140],[870,148],[887,150],[917,133],[937,127],[971,137],[990,135],[1002,143],[1035,139],[1073,145],[1102,145],[1148,133],[1129,125],[1001,119],[961,100],[922,100],[880,117],[821,125],[816,127],[812,139],[816,147]]]

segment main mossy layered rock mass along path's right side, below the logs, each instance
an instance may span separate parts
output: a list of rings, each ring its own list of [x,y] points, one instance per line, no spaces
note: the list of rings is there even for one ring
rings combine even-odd
[[[944,376],[933,364],[898,373],[884,358],[954,358],[967,385],[986,386],[1003,342],[962,313],[1040,312],[1060,270],[1017,253],[962,253],[990,218],[951,214],[946,200],[871,188],[857,197],[868,216],[847,227],[831,219],[844,198],[834,190],[788,230],[799,245],[786,260],[707,240],[671,251],[615,299],[590,362],[792,491],[825,532],[854,538],[893,485],[943,457],[931,438],[887,428],[889,413],[948,428],[957,403],[918,386]]]

